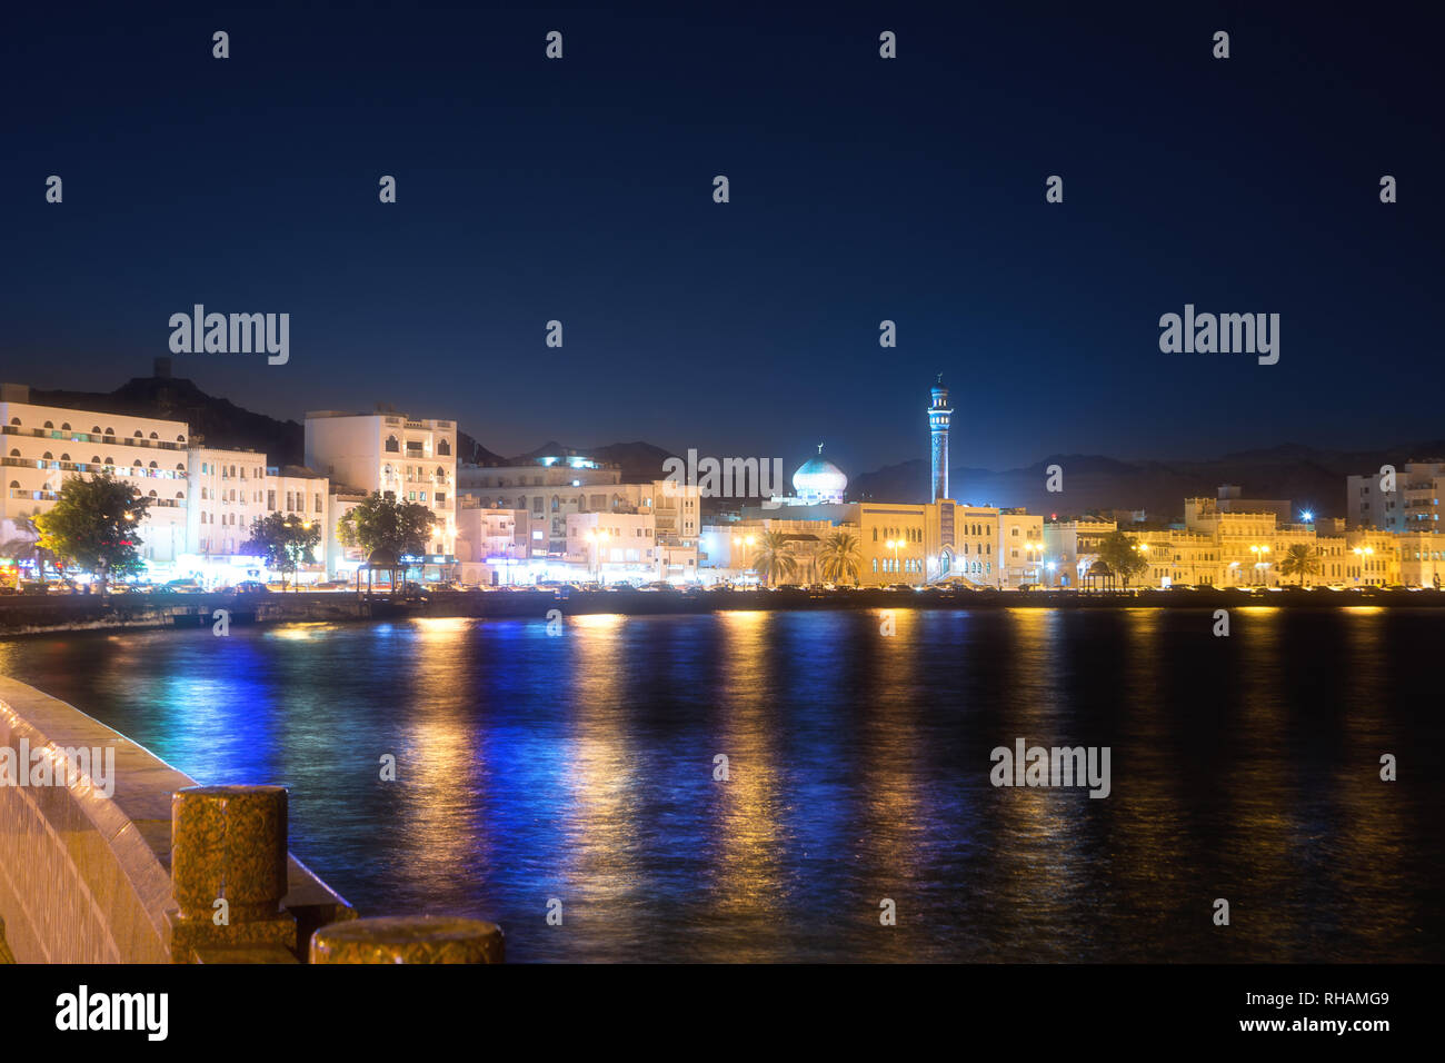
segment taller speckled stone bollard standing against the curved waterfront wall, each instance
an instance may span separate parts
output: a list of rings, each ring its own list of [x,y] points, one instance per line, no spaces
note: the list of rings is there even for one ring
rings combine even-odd
[[[286,788],[186,787],[171,795],[172,957],[198,949],[282,944],[296,950],[288,889]],[[224,901],[224,904],[220,904]]]

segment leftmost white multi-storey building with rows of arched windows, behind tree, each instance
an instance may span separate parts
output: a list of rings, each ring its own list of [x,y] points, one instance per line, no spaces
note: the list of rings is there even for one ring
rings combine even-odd
[[[147,565],[169,568],[185,552],[189,428],[182,421],[38,406],[27,386],[7,383],[0,385],[0,430],[6,538],[27,538],[27,521],[55,505],[66,479],[110,471],[150,499],[137,529]]]

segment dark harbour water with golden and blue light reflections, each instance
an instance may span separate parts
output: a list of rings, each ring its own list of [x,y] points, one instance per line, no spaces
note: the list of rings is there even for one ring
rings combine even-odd
[[[497,918],[516,959],[1436,957],[1445,725],[1412,677],[1445,618],[1231,626],[435,619],[25,639],[0,670],[204,781],[285,782],[358,907]],[[994,788],[1017,738],[1110,746],[1111,795]]]

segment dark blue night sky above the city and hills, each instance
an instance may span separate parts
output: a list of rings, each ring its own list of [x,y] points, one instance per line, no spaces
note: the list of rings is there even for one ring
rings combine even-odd
[[[672,7],[7,13],[0,376],[108,390],[202,302],[289,312],[290,363],[176,376],[501,453],[858,471],[926,456],[936,372],[959,467],[1442,434],[1425,6]],[[1162,354],[1186,302],[1279,312],[1279,364]]]

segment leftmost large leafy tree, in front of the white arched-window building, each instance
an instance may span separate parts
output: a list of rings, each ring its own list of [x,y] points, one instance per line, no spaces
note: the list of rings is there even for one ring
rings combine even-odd
[[[110,471],[90,479],[72,476],[61,484],[61,496],[51,512],[35,518],[40,532],[38,545],[53,558],[69,558],[92,573],[104,594],[111,573],[142,567],[136,528],[150,502]]]

